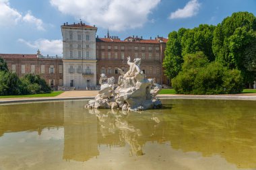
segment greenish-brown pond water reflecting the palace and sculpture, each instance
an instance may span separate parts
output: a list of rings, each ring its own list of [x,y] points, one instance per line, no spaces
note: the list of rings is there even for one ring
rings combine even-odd
[[[86,102],[0,105],[0,169],[256,169],[256,101],[129,113]]]

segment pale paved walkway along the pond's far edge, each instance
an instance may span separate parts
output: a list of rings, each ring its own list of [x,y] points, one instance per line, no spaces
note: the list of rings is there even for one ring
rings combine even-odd
[[[0,98],[0,103],[17,103],[30,101],[50,101],[65,99],[93,99],[98,91],[65,91],[56,97],[20,97]],[[256,93],[242,93],[234,95],[158,95],[160,99],[243,99],[256,100]]]

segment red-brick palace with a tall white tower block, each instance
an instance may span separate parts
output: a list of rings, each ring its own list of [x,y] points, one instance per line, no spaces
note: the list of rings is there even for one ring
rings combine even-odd
[[[147,78],[156,78],[156,83],[162,85],[170,84],[162,69],[166,38],[158,36],[145,40],[130,36],[121,40],[118,36],[109,36],[109,33],[99,38],[97,29],[82,22],[63,24],[63,58],[42,56],[39,50],[37,54],[0,54],[0,57],[19,77],[27,73],[39,74],[53,89],[94,89],[101,73],[115,77],[117,81],[117,68],[125,72],[129,70],[128,56],[131,60],[141,58],[140,68]]]

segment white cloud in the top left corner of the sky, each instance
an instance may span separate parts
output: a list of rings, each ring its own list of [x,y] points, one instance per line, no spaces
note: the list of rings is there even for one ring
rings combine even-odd
[[[35,24],[38,30],[44,30],[42,20],[28,12],[24,17],[22,13],[10,7],[9,0],[0,0],[0,26],[13,26],[19,22]]]

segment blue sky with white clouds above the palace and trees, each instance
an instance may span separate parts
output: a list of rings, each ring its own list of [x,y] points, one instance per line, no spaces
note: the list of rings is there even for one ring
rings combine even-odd
[[[179,28],[217,25],[237,11],[256,15],[256,0],[0,0],[0,54],[63,56],[61,25],[82,22],[121,40],[168,37]]]

